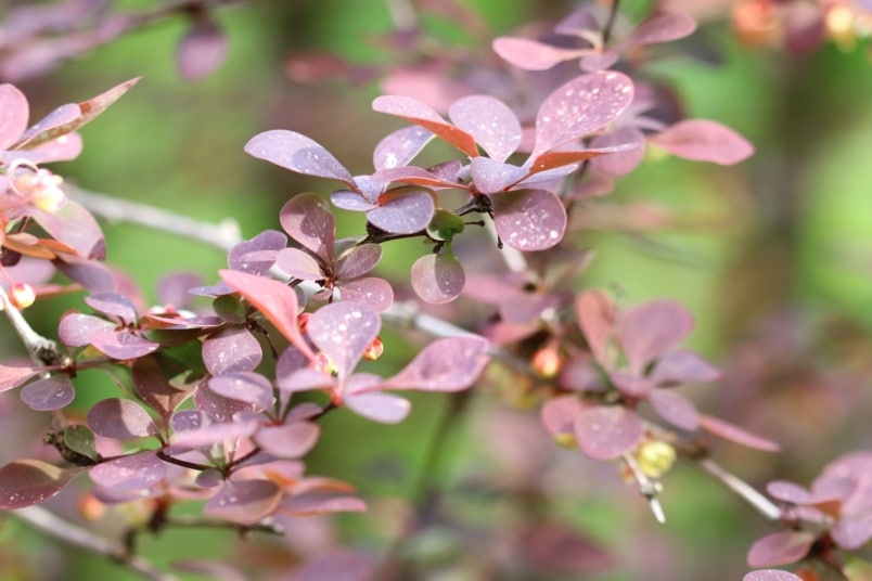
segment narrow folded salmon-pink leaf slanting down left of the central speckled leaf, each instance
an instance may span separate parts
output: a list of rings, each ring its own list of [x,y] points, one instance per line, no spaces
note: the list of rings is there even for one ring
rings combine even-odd
[[[293,288],[264,276],[221,270],[221,279],[254,305],[291,344],[315,359],[297,325],[297,294]]]

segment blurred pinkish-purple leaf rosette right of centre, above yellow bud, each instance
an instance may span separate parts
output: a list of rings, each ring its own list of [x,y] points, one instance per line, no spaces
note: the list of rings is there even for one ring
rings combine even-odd
[[[720,372],[697,353],[678,348],[693,328],[693,318],[681,305],[655,300],[619,312],[602,292],[576,297],[576,322],[589,351],[578,351],[557,378],[563,389],[585,396],[564,396],[542,409],[546,427],[556,437],[567,435],[594,460],[613,460],[632,452],[646,434],[641,403],[667,424],[685,431],[706,429],[744,446],[774,451],[774,442],[759,438],[696,411],[674,388],[713,382]]]

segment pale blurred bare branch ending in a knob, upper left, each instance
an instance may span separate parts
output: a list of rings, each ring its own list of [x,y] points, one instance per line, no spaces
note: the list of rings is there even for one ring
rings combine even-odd
[[[130,222],[153,230],[169,232],[215,246],[225,251],[230,250],[242,241],[240,225],[232,218],[226,218],[215,224],[180,216],[148,204],[89,192],[80,188],[76,188],[69,193],[72,199],[85,206],[91,214],[106,220]]]

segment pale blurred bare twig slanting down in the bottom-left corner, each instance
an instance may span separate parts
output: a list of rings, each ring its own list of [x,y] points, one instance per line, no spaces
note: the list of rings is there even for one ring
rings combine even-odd
[[[108,541],[88,529],[73,525],[41,506],[27,506],[26,508],[12,511],[11,514],[55,539],[124,565],[127,569],[141,574],[145,579],[151,579],[152,581],[178,580],[176,576],[155,568],[150,560],[137,555],[129,555],[121,544]]]

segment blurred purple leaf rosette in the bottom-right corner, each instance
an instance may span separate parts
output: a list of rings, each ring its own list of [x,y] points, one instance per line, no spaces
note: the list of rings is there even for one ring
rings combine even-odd
[[[861,550],[872,539],[872,452],[845,454],[828,464],[806,489],[785,480],[769,482],[767,492],[782,504],[784,530],[758,539],[748,550],[751,567],[778,567],[816,560],[839,568],[845,579],[872,565],[860,560],[852,569],[841,551]],[[851,573],[851,570],[854,573]],[[798,571],[797,571],[798,572]]]

